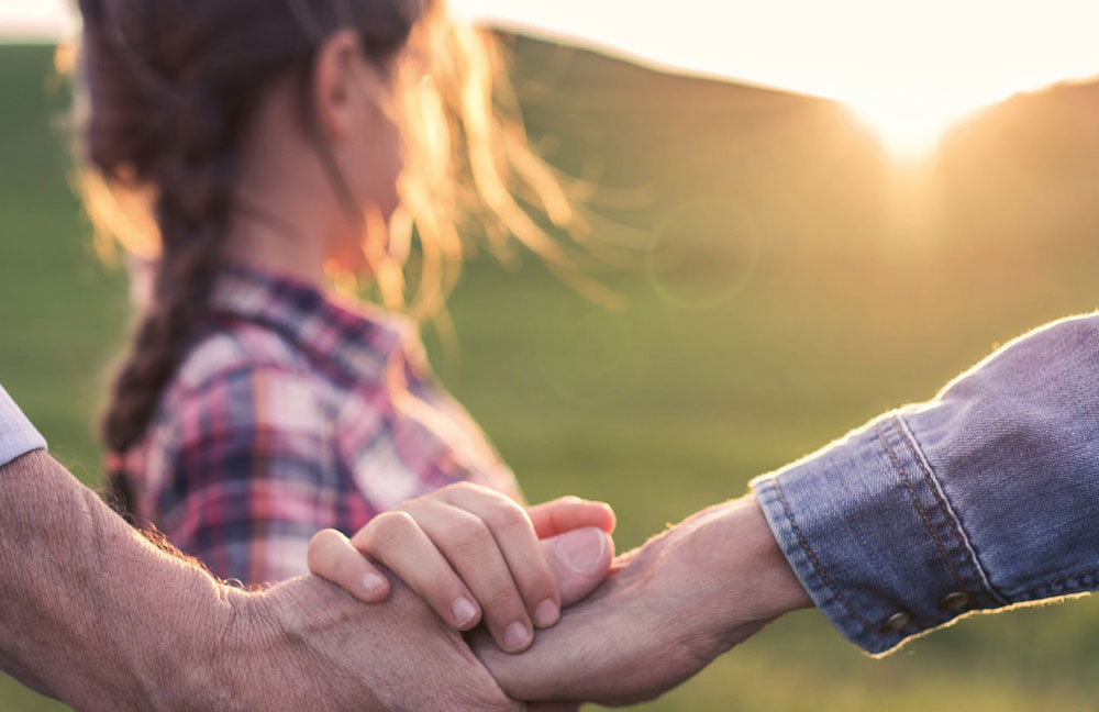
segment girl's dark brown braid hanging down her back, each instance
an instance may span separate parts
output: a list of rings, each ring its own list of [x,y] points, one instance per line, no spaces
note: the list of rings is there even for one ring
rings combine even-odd
[[[154,298],[135,330],[103,421],[114,453],[144,436],[164,389],[193,344],[209,308],[229,220],[235,166],[215,104],[195,101],[179,116],[178,143],[157,167],[162,254]]]

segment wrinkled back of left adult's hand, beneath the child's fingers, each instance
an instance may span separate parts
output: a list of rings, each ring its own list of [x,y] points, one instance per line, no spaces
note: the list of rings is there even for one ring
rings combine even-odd
[[[252,604],[254,613],[243,626],[251,632],[226,657],[254,656],[273,674],[259,699],[236,698],[232,707],[525,709],[500,690],[462,634],[403,585],[395,583],[386,603],[366,605],[332,583],[306,577],[270,589]],[[287,638],[297,644],[292,657],[268,643]],[[297,674],[288,675],[287,667],[298,668]],[[233,682],[226,683],[232,690]]]

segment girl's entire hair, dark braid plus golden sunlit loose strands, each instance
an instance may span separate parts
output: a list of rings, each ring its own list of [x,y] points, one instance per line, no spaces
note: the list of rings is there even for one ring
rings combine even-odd
[[[335,282],[445,331],[446,296],[470,236],[484,235],[503,262],[520,244],[581,291],[607,296],[542,226],[586,234],[566,183],[526,141],[501,48],[441,0],[81,0],[80,10],[78,185],[96,245],[157,270],[104,419],[111,450],[144,435],[196,336],[234,209],[240,133],[266,82],[311,76],[315,51],[338,30],[356,30],[368,59],[396,60],[390,110],[406,169],[388,234],[379,216],[363,216],[370,274]]]

